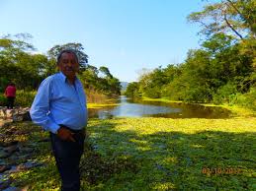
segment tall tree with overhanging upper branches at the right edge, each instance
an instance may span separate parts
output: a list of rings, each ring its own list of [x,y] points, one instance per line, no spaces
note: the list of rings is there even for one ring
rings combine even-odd
[[[218,54],[216,60],[232,73],[232,77],[229,73],[223,75],[239,79],[242,82],[239,85],[243,87],[241,89],[248,91],[256,83],[256,1],[222,0],[208,4],[203,11],[190,14],[188,21],[200,23],[201,32],[210,38],[222,33],[225,37],[232,35],[236,39],[229,44],[232,48]],[[220,43],[221,41],[218,46]],[[213,41],[211,44],[213,45]],[[206,47],[207,44],[204,45]]]

